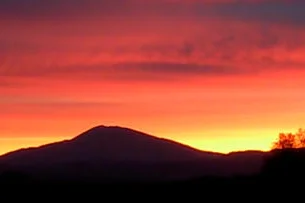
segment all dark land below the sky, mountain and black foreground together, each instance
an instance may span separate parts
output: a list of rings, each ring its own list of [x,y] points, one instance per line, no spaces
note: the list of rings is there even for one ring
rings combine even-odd
[[[4,188],[61,191],[70,199],[85,191],[100,198],[190,192],[214,199],[245,194],[253,199],[276,191],[274,198],[281,198],[304,180],[305,149],[224,155],[118,127],[93,128],[72,140],[0,157]]]

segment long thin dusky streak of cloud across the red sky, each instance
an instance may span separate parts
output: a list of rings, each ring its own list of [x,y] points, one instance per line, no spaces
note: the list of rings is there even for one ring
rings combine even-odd
[[[1,76],[48,77],[114,80],[160,80],[192,76],[225,76],[246,74],[247,70],[211,64],[182,64],[174,62],[133,62],[113,65],[75,65],[2,71]],[[1,84],[1,83],[0,83]]]

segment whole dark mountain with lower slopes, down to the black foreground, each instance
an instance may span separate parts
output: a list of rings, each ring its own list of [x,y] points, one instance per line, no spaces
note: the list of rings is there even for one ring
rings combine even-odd
[[[97,126],[71,140],[7,153],[0,166],[40,178],[156,181],[253,174],[264,157],[206,152],[129,128]]]

